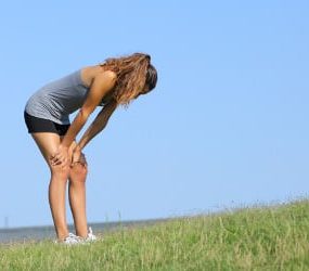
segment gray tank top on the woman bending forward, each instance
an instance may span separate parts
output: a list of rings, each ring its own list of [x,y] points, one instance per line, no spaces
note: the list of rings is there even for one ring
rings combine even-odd
[[[89,91],[80,72],[81,68],[41,87],[29,98],[25,111],[35,117],[68,125],[68,115],[82,106]]]

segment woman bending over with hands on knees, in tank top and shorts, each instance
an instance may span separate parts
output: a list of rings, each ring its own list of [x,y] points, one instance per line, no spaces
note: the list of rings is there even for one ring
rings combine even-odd
[[[88,166],[81,151],[104,129],[118,105],[127,107],[133,99],[153,90],[156,81],[151,56],[134,53],[79,68],[47,83],[28,100],[25,122],[51,172],[49,203],[56,242],[78,244],[96,238],[87,227],[85,181]],[[96,106],[103,107],[77,142],[78,132]],[[70,124],[68,115],[77,109]],[[67,180],[76,234],[68,232],[66,223]]]

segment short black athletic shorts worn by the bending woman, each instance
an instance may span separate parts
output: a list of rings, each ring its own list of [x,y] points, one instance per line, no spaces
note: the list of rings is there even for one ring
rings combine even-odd
[[[24,112],[25,122],[28,128],[28,132],[54,132],[59,136],[64,136],[70,125],[60,125],[50,119],[38,118]]]

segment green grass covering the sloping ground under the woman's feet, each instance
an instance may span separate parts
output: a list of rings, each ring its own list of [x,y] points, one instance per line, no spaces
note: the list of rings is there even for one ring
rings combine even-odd
[[[0,270],[309,270],[309,199],[123,228],[91,245],[0,246]]]

